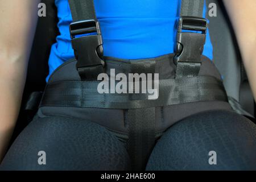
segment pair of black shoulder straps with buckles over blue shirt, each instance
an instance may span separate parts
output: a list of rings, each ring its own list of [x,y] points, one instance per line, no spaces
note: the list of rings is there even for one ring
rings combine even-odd
[[[77,59],[77,70],[81,80],[95,80],[104,72],[102,36],[100,24],[96,18],[93,0],[69,0],[73,23],[70,26],[72,47]],[[207,20],[203,18],[204,0],[182,0],[180,19],[177,26],[177,46],[175,63],[176,77],[197,76],[201,67],[207,31]],[[197,30],[201,34],[183,32]],[[95,33],[96,35],[77,35]]]

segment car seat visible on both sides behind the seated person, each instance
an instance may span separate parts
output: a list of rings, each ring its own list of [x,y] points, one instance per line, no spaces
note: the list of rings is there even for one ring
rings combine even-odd
[[[28,125],[38,109],[40,98],[46,86],[48,75],[48,57],[51,46],[56,42],[57,10],[54,0],[42,0],[47,7],[47,16],[40,17],[34,44],[32,46],[22,107],[13,139]],[[242,65],[236,37],[222,1],[207,0],[216,3],[217,17],[209,17],[209,31],[213,43],[213,57],[216,67],[224,78],[224,86],[229,97],[240,102],[243,109],[254,116],[254,100]]]

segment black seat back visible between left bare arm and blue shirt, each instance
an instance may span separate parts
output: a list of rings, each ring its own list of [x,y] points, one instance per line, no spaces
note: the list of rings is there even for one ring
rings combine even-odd
[[[46,17],[39,17],[36,27],[34,42],[32,44],[30,60],[28,62],[27,80],[24,88],[22,105],[13,139],[27,126],[31,121],[35,111],[26,109],[30,96],[39,96],[33,92],[42,92],[46,86],[46,77],[48,75],[48,59],[51,46],[56,42],[57,30],[57,10],[54,0],[42,0],[46,4]],[[40,98],[39,98],[40,99]]]

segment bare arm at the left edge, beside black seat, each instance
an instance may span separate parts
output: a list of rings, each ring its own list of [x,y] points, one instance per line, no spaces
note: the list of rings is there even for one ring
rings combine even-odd
[[[39,0],[0,0],[0,162],[20,109]]]

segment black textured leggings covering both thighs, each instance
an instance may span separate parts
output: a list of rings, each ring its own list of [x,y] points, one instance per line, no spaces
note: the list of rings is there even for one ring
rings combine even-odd
[[[38,152],[46,152],[46,165]],[[209,164],[209,152],[217,164]],[[2,162],[4,170],[130,170],[126,144],[92,122],[35,119]],[[208,111],[176,123],[158,140],[147,170],[256,169],[256,126],[230,111]]]

